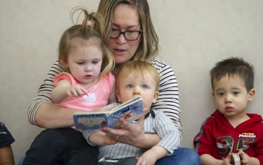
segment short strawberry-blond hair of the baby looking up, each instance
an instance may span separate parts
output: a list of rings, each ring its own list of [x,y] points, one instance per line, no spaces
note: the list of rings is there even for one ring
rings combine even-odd
[[[123,78],[123,76],[128,76],[130,73],[135,73],[136,75],[142,75],[150,74],[154,77],[154,80],[156,82],[155,91],[159,90],[160,87],[160,75],[158,71],[155,69],[155,67],[146,61],[140,61],[140,60],[134,60],[127,62],[119,71],[118,77],[116,80],[116,88],[119,90],[119,81],[120,78]]]

